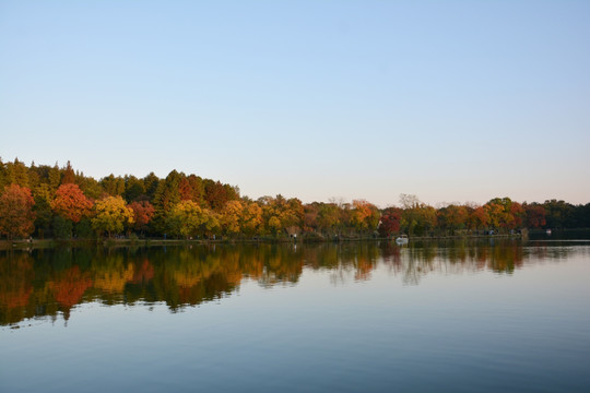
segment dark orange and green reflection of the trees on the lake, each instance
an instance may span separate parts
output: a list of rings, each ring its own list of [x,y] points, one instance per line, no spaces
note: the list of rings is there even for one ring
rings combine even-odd
[[[567,248],[505,242],[239,245],[56,249],[0,253],[0,325],[62,314],[75,305],[165,302],[175,312],[233,294],[244,279],[296,285],[304,269],[328,271],[334,285],[365,281],[382,265],[405,285],[430,272],[511,274],[526,263],[558,261]]]

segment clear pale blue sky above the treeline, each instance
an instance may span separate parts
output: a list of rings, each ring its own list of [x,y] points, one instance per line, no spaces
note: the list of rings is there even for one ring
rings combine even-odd
[[[590,1],[2,1],[0,156],[590,202]]]

